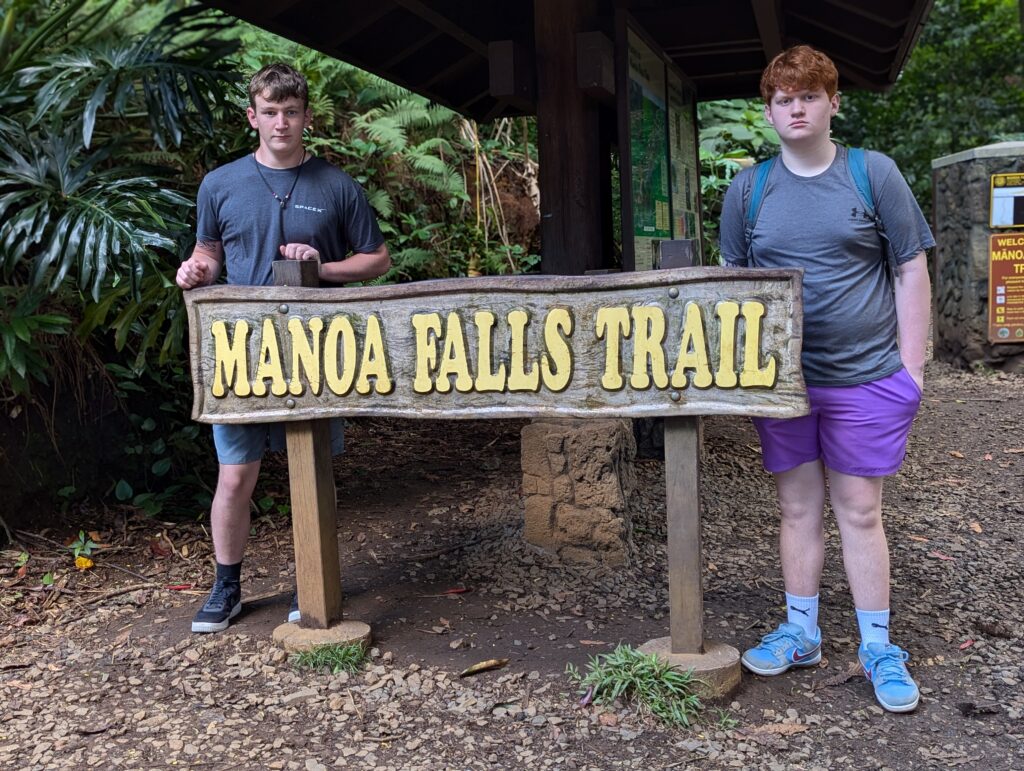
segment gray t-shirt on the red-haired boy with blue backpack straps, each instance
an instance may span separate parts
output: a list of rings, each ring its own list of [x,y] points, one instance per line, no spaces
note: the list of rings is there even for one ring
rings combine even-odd
[[[897,265],[935,246],[906,180],[892,159],[867,153],[874,208]],[[725,196],[722,258],[748,266],[743,237],[754,170]],[[896,305],[885,250],[847,169],[846,148],[821,174],[800,177],[775,163],[751,241],[753,267],[804,268],[804,380],[808,385],[869,383],[897,372]]]

